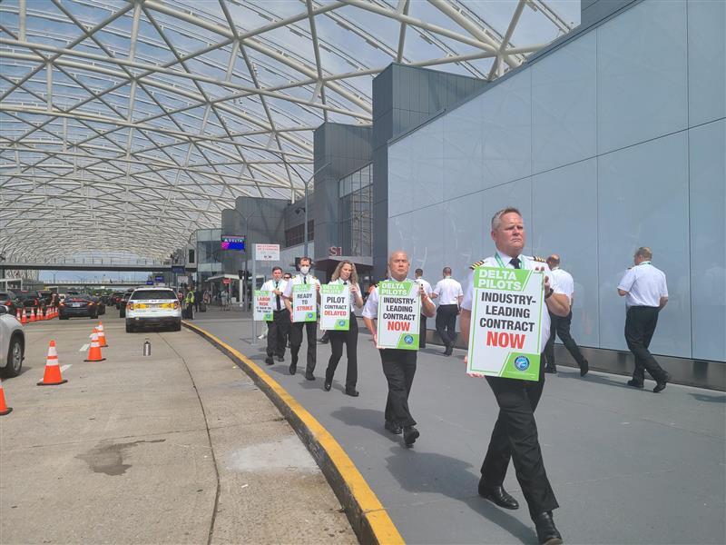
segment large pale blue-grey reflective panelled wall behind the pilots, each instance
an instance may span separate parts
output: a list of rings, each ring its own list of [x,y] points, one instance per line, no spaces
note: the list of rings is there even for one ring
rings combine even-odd
[[[516,206],[526,252],[574,276],[577,342],[627,350],[615,288],[650,246],[670,292],[652,351],[726,361],[724,20],[646,0],[391,144],[388,248],[464,279]]]

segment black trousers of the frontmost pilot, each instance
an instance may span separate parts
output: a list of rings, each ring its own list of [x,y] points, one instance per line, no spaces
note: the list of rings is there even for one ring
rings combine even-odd
[[[500,377],[486,377],[486,381],[494,391],[499,416],[482,464],[484,484],[487,488],[502,486],[511,458],[534,519],[544,511],[559,507],[544,471],[535,423],[535,409],[544,389],[544,366],[540,365],[538,381]]]

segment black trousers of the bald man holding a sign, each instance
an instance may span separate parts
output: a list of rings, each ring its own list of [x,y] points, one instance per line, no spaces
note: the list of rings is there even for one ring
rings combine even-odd
[[[383,374],[388,381],[388,401],[386,401],[386,421],[398,426],[413,426],[416,421],[408,410],[408,394],[416,374],[415,350],[395,348],[380,349]]]

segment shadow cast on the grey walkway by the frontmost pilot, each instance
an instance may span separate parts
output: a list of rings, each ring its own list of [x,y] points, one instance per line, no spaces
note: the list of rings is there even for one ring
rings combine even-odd
[[[488,500],[467,493],[476,491],[478,480],[472,465],[435,452],[401,451],[392,448],[386,464],[404,490],[414,493],[438,493],[464,503],[523,543],[536,543],[533,528],[509,515]],[[520,498],[520,503],[523,503]],[[526,510],[526,504],[520,509]]]

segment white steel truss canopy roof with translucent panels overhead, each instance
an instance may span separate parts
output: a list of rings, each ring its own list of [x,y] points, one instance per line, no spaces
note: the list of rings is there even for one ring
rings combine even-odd
[[[562,14],[562,15],[558,15]],[[312,130],[389,63],[492,79],[570,0],[0,4],[0,253],[165,257],[240,195],[299,196]]]

